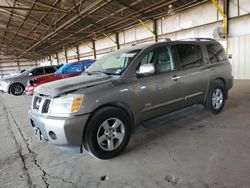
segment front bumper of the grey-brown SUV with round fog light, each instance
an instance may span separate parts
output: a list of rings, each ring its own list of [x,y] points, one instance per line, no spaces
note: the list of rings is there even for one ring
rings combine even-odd
[[[82,152],[83,131],[90,114],[74,117],[50,117],[29,110],[31,126],[40,139],[69,151]]]

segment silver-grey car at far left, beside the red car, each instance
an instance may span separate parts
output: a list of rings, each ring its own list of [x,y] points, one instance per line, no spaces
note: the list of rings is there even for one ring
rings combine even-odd
[[[10,76],[0,80],[0,91],[13,95],[22,95],[27,81],[39,75],[51,74],[61,65],[37,67],[25,70],[15,76]]]

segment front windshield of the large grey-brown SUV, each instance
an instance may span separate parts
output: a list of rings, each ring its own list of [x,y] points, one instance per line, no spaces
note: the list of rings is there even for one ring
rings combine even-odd
[[[86,72],[102,72],[108,75],[121,75],[139,52],[140,50],[119,50],[107,54],[92,64]]]

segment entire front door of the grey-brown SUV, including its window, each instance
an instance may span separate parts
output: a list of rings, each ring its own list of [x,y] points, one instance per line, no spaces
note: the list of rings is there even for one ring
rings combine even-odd
[[[184,99],[182,80],[177,78],[179,71],[175,70],[171,48],[165,45],[150,50],[141,64],[154,64],[155,74],[139,78],[135,85],[140,96],[140,119],[150,119],[180,108]]]

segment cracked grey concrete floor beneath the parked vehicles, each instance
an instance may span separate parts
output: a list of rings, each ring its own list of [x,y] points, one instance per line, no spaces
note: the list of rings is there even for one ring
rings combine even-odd
[[[235,81],[219,115],[190,108],[138,127],[108,161],[39,141],[30,103],[0,95],[0,187],[250,187],[250,81]]]

